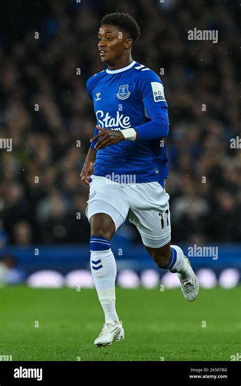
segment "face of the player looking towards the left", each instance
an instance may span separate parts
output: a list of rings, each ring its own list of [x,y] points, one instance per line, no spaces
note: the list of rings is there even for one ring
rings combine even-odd
[[[132,44],[126,32],[121,32],[117,26],[110,24],[103,24],[100,27],[98,40],[99,54],[103,63],[111,63],[122,58]]]

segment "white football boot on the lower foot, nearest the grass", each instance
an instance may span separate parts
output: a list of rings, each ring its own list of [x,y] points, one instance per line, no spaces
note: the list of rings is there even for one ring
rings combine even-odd
[[[110,346],[114,340],[118,341],[125,338],[125,331],[122,327],[122,322],[107,321],[101,330],[100,335],[94,341],[96,347]]]

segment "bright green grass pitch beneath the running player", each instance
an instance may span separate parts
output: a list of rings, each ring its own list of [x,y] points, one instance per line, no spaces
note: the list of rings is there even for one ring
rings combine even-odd
[[[96,348],[104,319],[94,289],[3,287],[0,355],[13,361],[230,361],[240,353],[240,295],[241,287],[200,289],[190,303],[180,289],[116,288],[125,340]]]

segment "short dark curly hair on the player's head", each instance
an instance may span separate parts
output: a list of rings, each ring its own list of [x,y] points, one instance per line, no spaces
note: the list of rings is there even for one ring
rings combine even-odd
[[[133,44],[138,40],[140,36],[140,27],[137,22],[128,13],[109,13],[101,20],[101,25],[110,24],[116,25],[120,29],[129,33],[130,38],[133,40]]]

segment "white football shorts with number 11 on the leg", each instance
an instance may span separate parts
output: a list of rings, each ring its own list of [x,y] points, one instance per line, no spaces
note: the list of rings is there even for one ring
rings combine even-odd
[[[105,177],[91,176],[86,216],[108,214],[117,230],[129,214],[147,247],[160,248],[171,239],[169,194],[158,182],[119,184]]]

